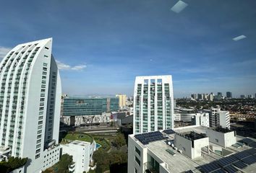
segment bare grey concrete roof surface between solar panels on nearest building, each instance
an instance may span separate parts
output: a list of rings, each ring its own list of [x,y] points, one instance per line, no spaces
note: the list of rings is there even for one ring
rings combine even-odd
[[[174,128],[173,130],[176,133],[187,133],[189,131],[194,131],[196,133],[206,133],[206,129],[207,128],[203,126],[192,125],[184,128]],[[163,135],[166,136],[166,133],[163,133]],[[168,136],[168,140],[174,140],[175,134],[171,134],[167,136]],[[134,136],[131,136],[131,137],[135,139]],[[239,141],[245,137],[236,136],[236,138],[237,138],[237,141]],[[168,146],[166,144],[166,140],[150,142],[147,145],[143,145],[137,139],[135,141],[137,141],[137,143],[143,148],[145,147],[148,148],[151,152],[153,152],[153,154],[155,154],[156,156],[158,156],[158,158],[164,161],[168,165],[167,169],[169,172],[186,172],[188,170],[192,170],[193,172],[200,172],[199,170],[196,169],[196,167],[199,167],[203,164],[208,164],[212,161],[216,161],[218,159],[223,158],[223,156],[220,156],[213,152],[210,152],[210,154],[208,154],[207,152],[203,151],[203,155],[201,157],[196,159],[190,159],[188,156],[185,156],[184,154],[180,154],[178,151],[175,151],[171,146]],[[210,146],[218,146],[215,143],[210,143],[210,141],[209,141],[209,144]],[[221,146],[218,146],[218,147],[221,147]],[[225,149],[231,151],[234,154],[240,151],[247,150],[249,148],[251,147],[244,145],[242,148],[235,148],[231,146]],[[166,149],[171,149],[171,151],[173,151],[176,155],[172,156],[166,151]],[[251,164],[248,167],[242,169],[242,172],[255,172],[255,170],[256,170],[256,163]]]

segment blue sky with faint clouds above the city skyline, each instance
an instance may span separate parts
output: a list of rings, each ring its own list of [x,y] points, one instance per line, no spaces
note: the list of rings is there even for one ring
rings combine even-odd
[[[62,90],[132,95],[135,76],[171,74],[174,96],[256,92],[256,1],[1,1],[0,57],[54,38]],[[239,35],[246,38],[232,40]]]

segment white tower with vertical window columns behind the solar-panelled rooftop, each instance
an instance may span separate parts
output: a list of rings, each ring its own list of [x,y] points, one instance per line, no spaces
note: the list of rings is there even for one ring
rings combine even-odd
[[[170,76],[137,76],[133,133],[174,127],[174,94]]]

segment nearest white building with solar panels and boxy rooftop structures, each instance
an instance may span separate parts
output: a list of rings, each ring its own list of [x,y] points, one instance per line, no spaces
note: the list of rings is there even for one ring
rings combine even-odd
[[[233,130],[199,125],[129,135],[128,173],[255,172],[254,147]]]

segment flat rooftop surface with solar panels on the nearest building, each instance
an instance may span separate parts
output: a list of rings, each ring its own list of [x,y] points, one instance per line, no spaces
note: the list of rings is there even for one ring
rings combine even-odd
[[[242,170],[242,172],[255,172],[256,170],[256,148],[251,146],[243,145],[242,147],[230,146],[228,148],[223,148],[215,143],[210,143],[210,146],[216,146],[218,148],[223,148],[226,152],[229,152],[227,156],[221,156],[220,154],[211,152],[208,154],[207,148],[202,148],[202,156],[196,159],[190,159],[188,156],[179,153],[174,148],[167,144],[167,141],[174,141],[174,136],[176,133],[184,134],[189,136],[192,140],[197,138],[205,138],[203,134],[206,133],[208,128],[198,125],[187,126],[184,128],[174,128],[172,130],[163,130],[157,133],[157,136],[163,136],[163,139],[157,141],[148,141],[148,143],[142,144],[138,138],[131,136],[137,143],[142,146],[142,148],[148,148],[152,151],[158,158],[164,161],[165,167],[169,172],[187,172],[191,170],[192,172],[213,172],[218,170],[218,172],[229,172],[231,169]],[[225,133],[225,132],[224,132]],[[143,138],[140,135],[140,138]],[[237,141],[242,143],[245,137],[236,136]],[[138,139],[138,140],[137,140]],[[256,142],[254,139],[250,139],[249,143]],[[248,141],[245,138],[245,141]],[[171,150],[171,152],[170,152]],[[232,159],[233,158],[233,159]],[[226,163],[225,161],[229,161]],[[159,163],[161,164],[161,163]],[[225,165],[223,165],[225,164]],[[221,166],[222,165],[222,166]],[[210,168],[210,171],[208,170]]]

